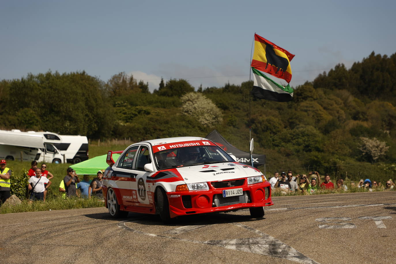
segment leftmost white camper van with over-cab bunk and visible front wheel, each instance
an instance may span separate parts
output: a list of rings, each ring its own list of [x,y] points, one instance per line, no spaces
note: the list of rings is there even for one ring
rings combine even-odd
[[[0,130],[0,159],[63,162],[61,152],[52,143],[45,142],[43,135],[19,129]]]

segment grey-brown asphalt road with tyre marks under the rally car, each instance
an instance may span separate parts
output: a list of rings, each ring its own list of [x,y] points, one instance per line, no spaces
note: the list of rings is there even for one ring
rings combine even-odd
[[[0,215],[0,263],[395,263],[396,192],[274,197],[249,210],[112,219],[106,208]]]

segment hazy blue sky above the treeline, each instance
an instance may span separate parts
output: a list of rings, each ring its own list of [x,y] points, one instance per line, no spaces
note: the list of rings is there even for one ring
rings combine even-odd
[[[0,80],[48,70],[118,72],[158,88],[249,80],[254,33],[295,54],[296,86],[372,51],[396,52],[395,1],[0,0]]]

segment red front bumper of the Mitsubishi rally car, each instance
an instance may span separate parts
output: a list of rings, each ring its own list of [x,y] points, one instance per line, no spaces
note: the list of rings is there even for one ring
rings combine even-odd
[[[223,190],[242,188],[241,196],[223,198]],[[167,192],[171,217],[232,211],[273,205],[268,181],[247,186],[211,188],[209,190]]]

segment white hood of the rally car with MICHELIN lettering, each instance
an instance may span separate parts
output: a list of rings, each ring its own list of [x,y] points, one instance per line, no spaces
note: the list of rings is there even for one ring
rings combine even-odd
[[[177,171],[187,184],[261,175],[260,171],[251,166],[231,162],[180,167]]]

